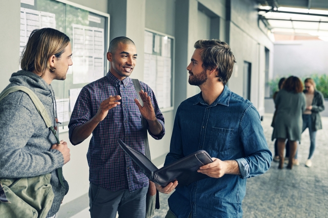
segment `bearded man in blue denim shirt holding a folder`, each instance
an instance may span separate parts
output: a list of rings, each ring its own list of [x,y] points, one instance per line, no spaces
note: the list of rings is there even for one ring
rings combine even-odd
[[[194,47],[189,84],[201,92],[178,107],[164,165],[198,150],[213,162],[198,170],[209,178],[175,190],[166,217],[242,217],[246,179],[266,172],[272,155],[254,105],[226,86],[235,63],[229,45],[213,39]],[[170,193],[178,182],[156,187]]]

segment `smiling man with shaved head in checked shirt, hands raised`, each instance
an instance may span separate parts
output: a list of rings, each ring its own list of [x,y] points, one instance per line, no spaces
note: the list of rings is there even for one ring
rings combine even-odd
[[[72,144],[81,143],[92,133],[87,159],[91,218],[144,218],[149,180],[121,149],[122,139],[144,153],[142,117],[155,139],[165,134],[164,117],[153,91],[140,82],[143,107],[130,75],[136,65],[137,49],[124,36],[113,39],[107,52],[111,62],[107,75],[83,87],[69,123]],[[155,185],[153,185],[156,193]]]

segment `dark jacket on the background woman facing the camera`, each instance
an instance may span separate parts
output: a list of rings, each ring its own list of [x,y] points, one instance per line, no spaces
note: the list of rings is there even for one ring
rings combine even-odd
[[[306,93],[306,90],[303,91],[304,94]],[[320,113],[321,111],[324,110],[324,98],[321,92],[315,90],[314,91],[314,97],[312,101],[312,130],[316,131],[319,129],[322,129],[322,124],[321,124],[321,116]]]

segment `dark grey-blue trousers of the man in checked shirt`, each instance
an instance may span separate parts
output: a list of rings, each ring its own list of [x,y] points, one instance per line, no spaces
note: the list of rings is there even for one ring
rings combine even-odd
[[[133,192],[110,191],[90,183],[89,205],[91,218],[144,218],[148,186]]]

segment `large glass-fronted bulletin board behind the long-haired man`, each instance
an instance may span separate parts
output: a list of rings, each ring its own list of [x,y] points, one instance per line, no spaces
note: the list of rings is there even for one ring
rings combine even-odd
[[[50,27],[71,39],[73,65],[66,80],[53,80],[61,132],[67,130],[81,89],[108,71],[110,15],[66,0],[21,0],[20,53],[34,29]]]

